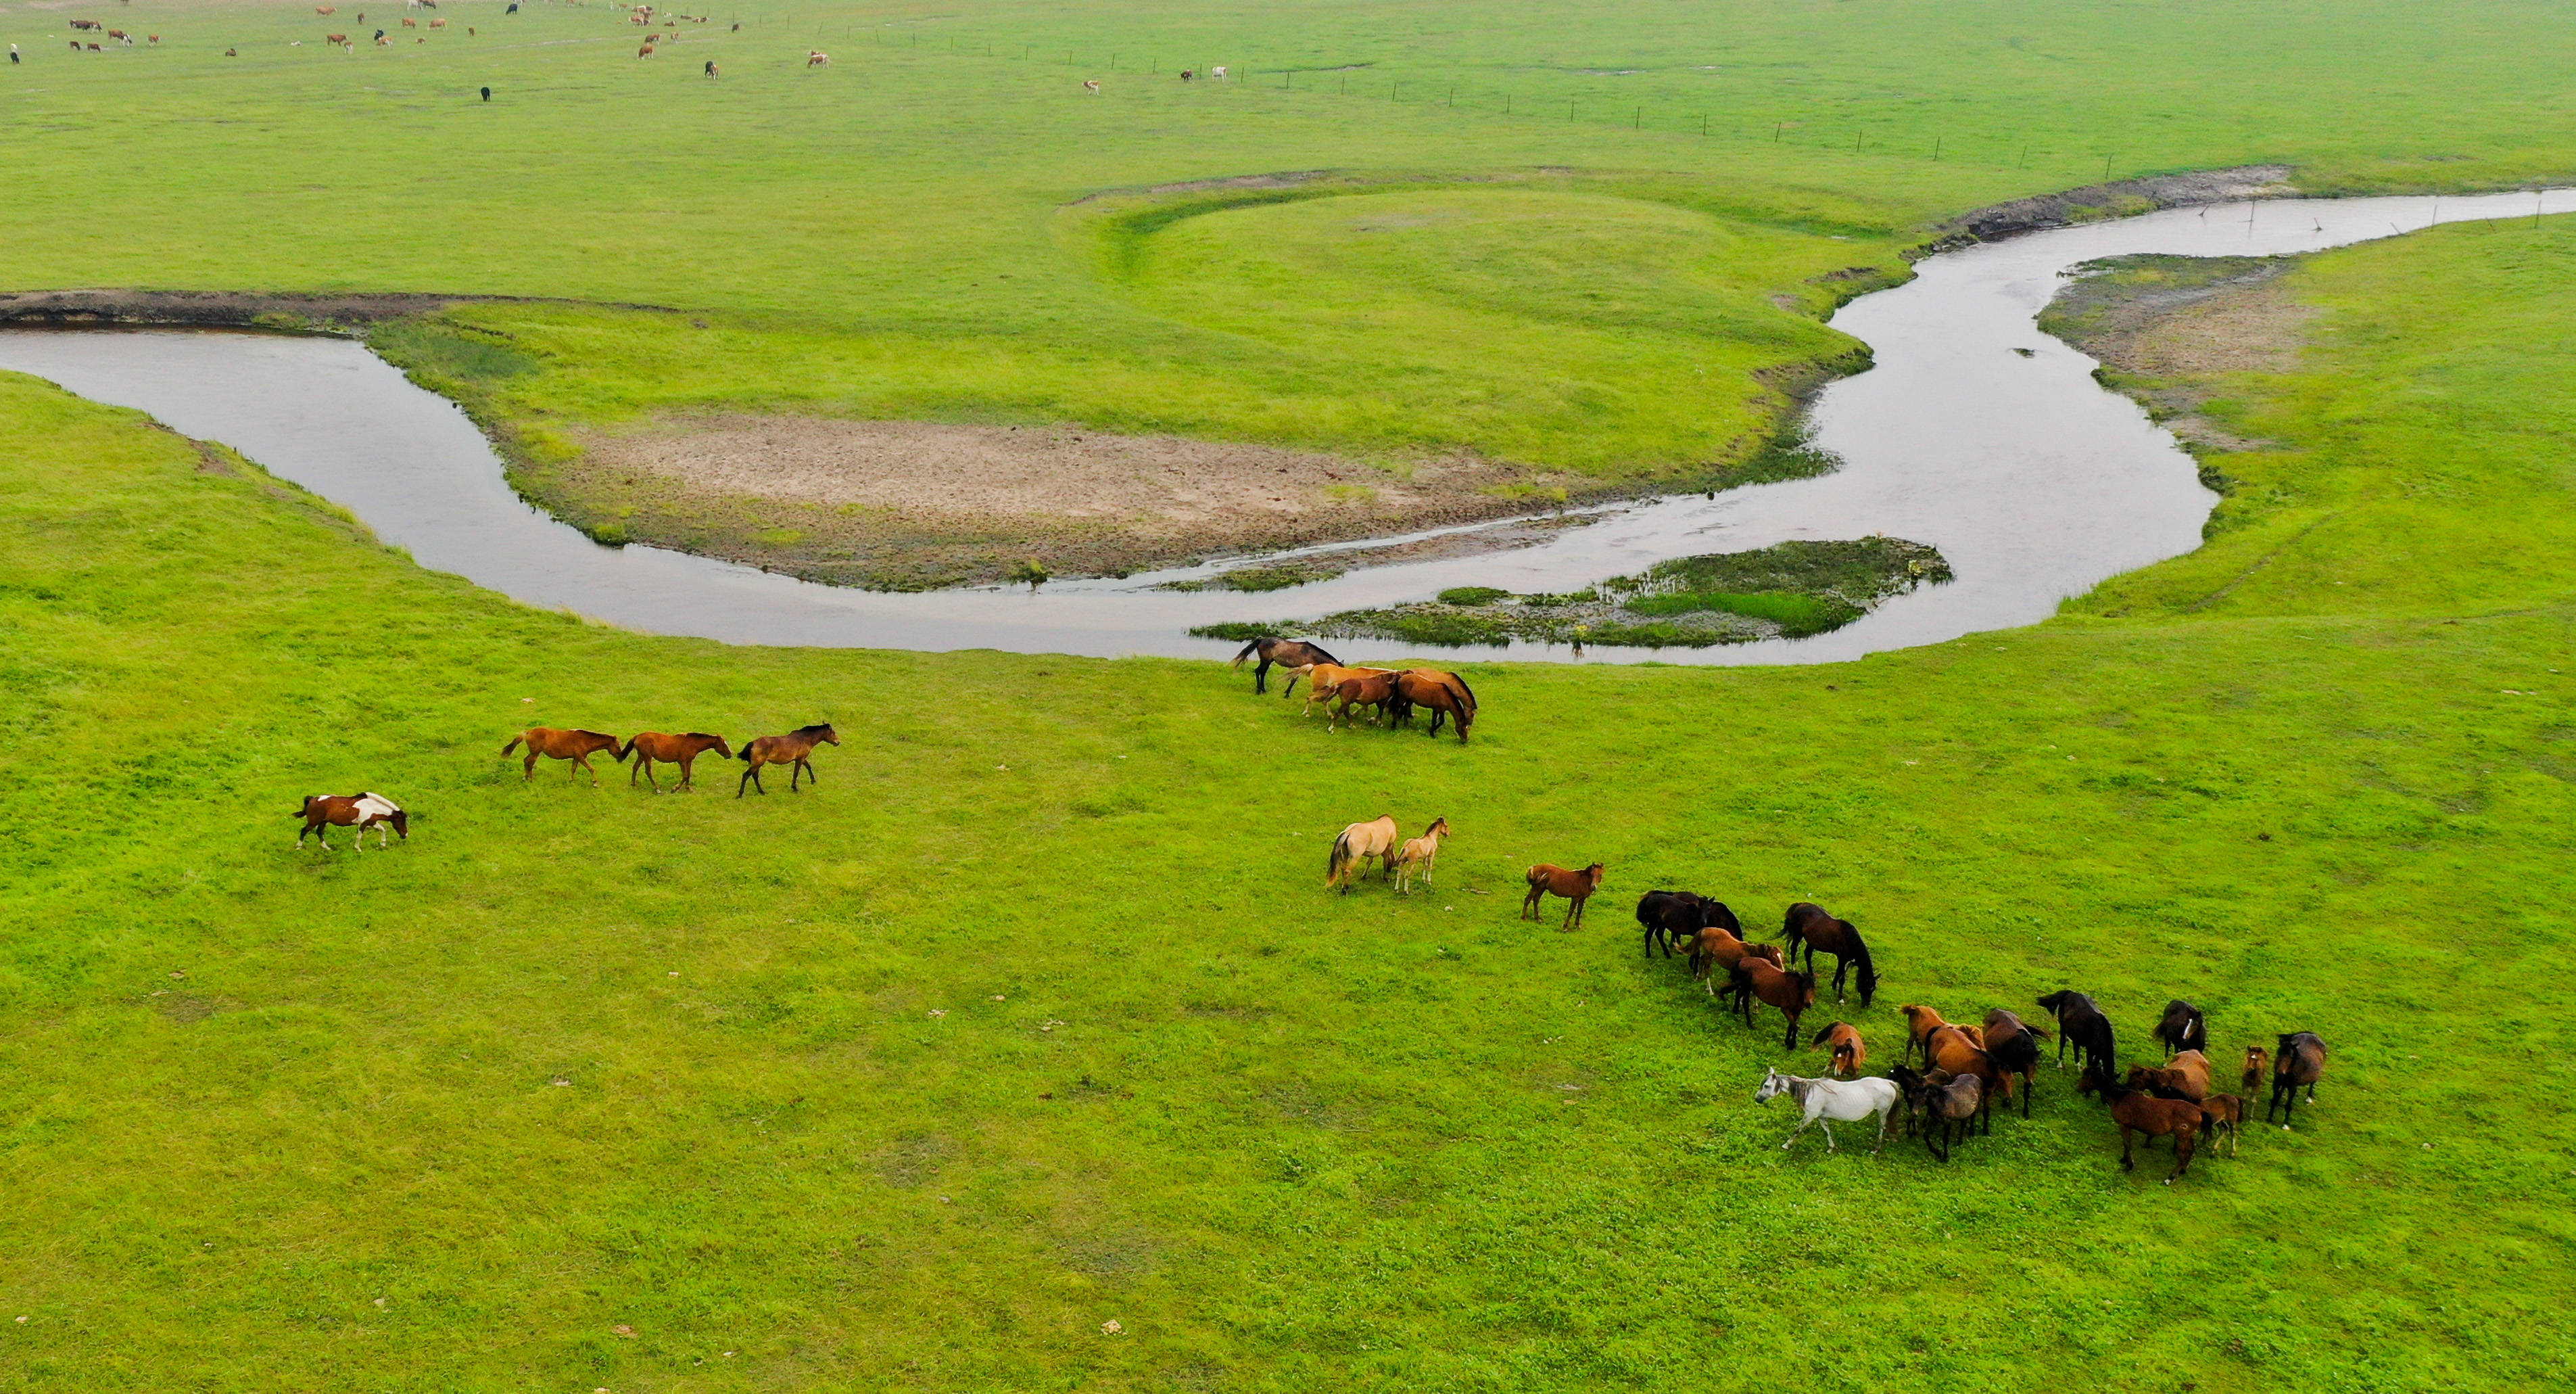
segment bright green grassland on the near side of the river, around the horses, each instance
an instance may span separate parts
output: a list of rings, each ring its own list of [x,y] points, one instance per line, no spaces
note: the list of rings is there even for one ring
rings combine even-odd
[[[2568,222],[2285,278],[2195,557],[1857,665],[1479,667],[1468,747],[533,613],[0,379],[0,1386],[2545,1386]],[[495,755],[824,716],[793,799]],[[325,788],[412,840],[294,853]],[[1437,894],[1324,897],[1386,809]],[[1535,858],[1610,863],[1592,928],[1512,920]],[[2334,1074],[2174,1188],[2063,1077],[1947,1170],[1780,1154],[1656,884],[1857,920],[1880,1054],[2076,984]]]

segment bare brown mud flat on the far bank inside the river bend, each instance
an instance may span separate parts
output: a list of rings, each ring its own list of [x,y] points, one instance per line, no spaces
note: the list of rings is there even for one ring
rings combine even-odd
[[[832,580],[914,590],[1046,575],[1128,575],[1208,554],[1412,533],[1553,505],[1582,477],[1468,454],[1378,466],[1316,451],[778,415],[665,417],[574,435],[580,459],[533,492],[592,533]],[[1427,554],[1512,546],[1427,539]]]

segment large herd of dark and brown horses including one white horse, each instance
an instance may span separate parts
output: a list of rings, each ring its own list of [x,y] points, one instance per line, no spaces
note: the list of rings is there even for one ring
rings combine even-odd
[[[1844,1000],[1844,979],[1855,977],[1860,1005],[1868,1007],[1878,992],[1878,966],[1870,946],[1850,920],[1837,920],[1821,904],[1798,902],[1780,922],[1780,943],[1749,943],[1736,912],[1713,897],[1692,892],[1646,892],[1636,904],[1636,922],[1643,928],[1643,953],[1656,948],[1667,959],[1680,948],[1692,977],[1716,995],[1718,974],[1726,979],[1731,1010],[1754,1028],[1757,1005],[1775,1007],[1788,1028],[1780,1046],[1798,1049],[1798,1018],[1816,1005],[1816,953],[1834,956],[1834,1000]],[[1798,956],[1806,966],[1793,969]],[[1808,1036],[1808,1049],[1826,1051],[1832,1062],[1821,1077],[1798,1077],[1765,1069],[1754,1103],[1790,1095],[1801,1111],[1798,1129],[1780,1147],[1795,1147],[1811,1126],[1824,1126],[1824,1144],[1834,1149],[1832,1123],[1857,1123],[1873,1118],[1878,1149],[1886,1149],[1888,1129],[1901,1116],[1904,1134],[1917,1131],[1924,1149],[1947,1162],[1953,1147],[1973,1134],[1994,1131],[1994,1098],[2009,1105],[2022,1103],[2030,1116],[2030,1098],[2038,1087],[2038,1067],[2045,1059],[2043,1041],[2056,1036],[2056,1064],[2066,1067],[2074,1054],[2076,1093],[2094,1095],[2110,1108],[2120,1129],[2120,1167],[2136,1170],[2136,1141],[2143,1136],[2172,1139],[2174,1170],[2164,1180],[2187,1175],[2200,1139],[2215,1149],[2226,1144],[2236,1154],[2239,1129],[2251,1100],[2269,1080],[2272,1095],[2264,1121],[2280,1118],[2282,1131],[2298,1111],[2306,1090],[2316,1103],[2316,1082],[2326,1074],[2326,1041],[2313,1031],[2282,1033],[2272,1051],[2246,1046],[2241,1093],[2215,1087],[2210,1064],[2210,1023],[2192,1002],[2166,1002],[2151,1036],[2164,1046],[2161,1064],[2130,1064],[2120,1069],[2120,1049],[2110,1015],[2084,992],[2048,992],[2038,1000],[2056,1023],[2022,1020],[2007,1007],[1989,1007],[1981,1023],[1950,1023],[1924,1005],[1896,1007],[1906,1018],[1906,1044],[1886,1074],[1862,1074],[1868,1041],[1860,1028],[1834,1020]],[[1917,1069],[1917,1056],[1922,1069]]]

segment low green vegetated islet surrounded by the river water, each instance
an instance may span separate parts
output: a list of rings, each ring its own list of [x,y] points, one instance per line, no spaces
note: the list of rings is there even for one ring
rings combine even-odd
[[[1950,580],[1950,564],[1919,541],[1783,541],[1659,562],[1566,595],[1512,595],[1492,585],[1443,590],[1432,603],[1342,611],[1296,624],[1203,624],[1203,639],[1262,634],[1396,639],[1404,644],[1613,644],[1708,647],[1829,634],[1888,595]]]

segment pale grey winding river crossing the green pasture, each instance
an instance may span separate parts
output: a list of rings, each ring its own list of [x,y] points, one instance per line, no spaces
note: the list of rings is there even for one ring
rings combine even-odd
[[[657,634],[734,644],[1206,657],[1229,654],[1234,644],[1190,639],[1193,624],[1396,606],[1453,585],[1579,590],[1669,557],[1790,539],[1891,533],[1937,546],[1955,582],[1899,595],[1834,634],[1579,654],[1584,662],[1837,662],[2035,624],[2105,577],[2200,546],[2215,495],[2200,487],[2192,459],[2133,402],[2097,387],[2092,358],[2032,325],[2066,268],[2125,253],[2313,253],[2414,232],[2434,219],[2537,211],[2576,211],[2576,191],[2169,209],[1927,258],[1914,281],[1834,314],[1834,327],[1865,340],[1878,363],[1816,399],[1816,443],[1842,456],[1839,472],[1716,500],[1615,505],[1540,546],[1363,567],[1267,595],[1157,590],[1221,567],[1048,582],[1036,593],[886,595],[654,546],[600,546],[523,502],[500,456],[453,402],[412,387],[348,340],[5,330],[0,368],[222,441],[340,502],[422,567],[459,572],[531,606]],[[1296,554],[1316,551],[1337,549]],[[1422,652],[1386,642],[1334,647],[1345,660]],[[1546,644],[1453,652],[1577,657]]]

